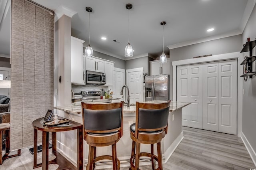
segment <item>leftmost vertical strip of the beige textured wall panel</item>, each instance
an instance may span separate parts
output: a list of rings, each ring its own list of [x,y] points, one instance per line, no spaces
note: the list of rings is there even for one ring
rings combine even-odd
[[[13,3],[15,2],[15,3]],[[12,0],[10,147],[22,147],[24,1]]]

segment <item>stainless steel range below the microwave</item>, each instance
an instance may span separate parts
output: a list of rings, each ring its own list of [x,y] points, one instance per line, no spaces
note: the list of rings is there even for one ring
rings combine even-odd
[[[110,103],[111,99],[100,99],[101,91],[81,91],[83,102]]]

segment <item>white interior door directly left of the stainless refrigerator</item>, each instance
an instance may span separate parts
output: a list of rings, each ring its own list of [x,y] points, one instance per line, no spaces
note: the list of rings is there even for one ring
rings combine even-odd
[[[142,102],[143,92],[143,67],[126,70],[126,85],[130,90],[130,103]]]

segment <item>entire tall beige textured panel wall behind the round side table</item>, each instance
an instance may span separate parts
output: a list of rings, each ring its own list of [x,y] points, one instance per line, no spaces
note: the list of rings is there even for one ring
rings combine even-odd
[[[11,23],[10,147],[16,150],[33,145],[32,122],[53,109],[54,16],[32,2],[12,0]]]

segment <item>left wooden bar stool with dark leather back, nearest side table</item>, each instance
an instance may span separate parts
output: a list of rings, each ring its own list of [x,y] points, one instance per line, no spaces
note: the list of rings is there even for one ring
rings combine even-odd
[[[83,136],[89,144],[86,170],[94,170],[95,162],[112,160],[113,170],[120,169],[116,157],[116,142],[123,134],[123,102],[118,103],[82,103]],[[96,146],[112,145],[112,156],[96,157]]]

